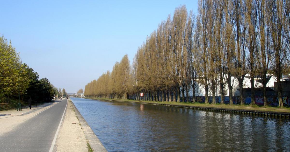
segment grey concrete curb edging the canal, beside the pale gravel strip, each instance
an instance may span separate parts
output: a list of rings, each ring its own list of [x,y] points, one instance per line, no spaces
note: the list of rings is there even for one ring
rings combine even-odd
[[[79,113],[77,110],[77,107],[75,107],[75,104],[71,102],[73,105],[73,108],[75,109],[75,113],[77,115],[77,118],[79,118],[79,122],[81,123],[81,126],[84,130],[84,134],[86,139],[88,140],[91,148],[94,151],[100,151],[100,152],[107,152],[106,148],[103,146],[102,142],[97,138],[93,130],[90,128],[84,117]]]

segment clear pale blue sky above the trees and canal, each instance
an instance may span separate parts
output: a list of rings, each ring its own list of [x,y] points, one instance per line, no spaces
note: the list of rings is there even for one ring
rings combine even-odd
[[[57,88],[85,89],[125,54],[132,63],[139,46],[168,14],[197,0],[0,1],[0,35],[23,63]]]

